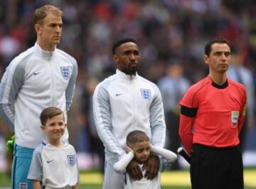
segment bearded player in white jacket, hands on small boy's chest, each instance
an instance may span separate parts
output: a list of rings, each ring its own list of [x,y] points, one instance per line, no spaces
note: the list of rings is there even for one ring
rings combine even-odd
[[[113,164],[125,153],[125,137],[133,130],[142,130],[152,145],[164,147],[166,125],[161,93],[156,84],[137,73],[139,47],[131,38],[118,40],[112,47],[116,74],[108,77],[95,88],[93,113],[97,133],[105,146],[105,174],[103,189],[122,189],[124,176],[114,171]],[[158,156],[146,161],[153,179],[159,170]],[[155,171],[156,170],[156,171]],[[142,178],[137,161],[132,160],[127,172],[135,179]]]

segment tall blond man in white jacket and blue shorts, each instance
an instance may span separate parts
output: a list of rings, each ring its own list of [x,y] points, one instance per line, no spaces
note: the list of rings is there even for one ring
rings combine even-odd
[[[36,44],[11,61],[0,84],[0,117],[16,136],[11,173],[15,189],[33,188],[27,176],[33,149],[44,139],[39,115],[55,106],[66,117],[78,75],[75,59],[56,48],[63,30],[62,11],[41,6],[33,22]],[[63,139],[68,140],[67,130]]]

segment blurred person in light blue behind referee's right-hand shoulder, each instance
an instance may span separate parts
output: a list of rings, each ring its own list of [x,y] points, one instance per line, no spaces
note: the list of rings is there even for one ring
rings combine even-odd
[[[243,65],[242,52],[239,48],[234,48],[232,59],[228,69],[228,78],[238,81],[244,85],[247,91],[247,114],[245,116],[245,123],[239,135],[240,150],[245,149],[245,137],[248,129],[254,126],[254,105],[255,105],[255,86],[253,81],[252,71]]]

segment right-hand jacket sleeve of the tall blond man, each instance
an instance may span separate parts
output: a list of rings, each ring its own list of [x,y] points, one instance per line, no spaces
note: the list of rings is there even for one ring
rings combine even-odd
[[[72,59],[73,61],[73,69],[72,74],[70,76],[70,80],[68,83],[68,87],[65,91],[65,98],[66,98],[66,111],[70,109],[70,106],[72,104],[74,91],[75,91],[75,81],[78,77],[78,63],[75,61],[75,59]]]

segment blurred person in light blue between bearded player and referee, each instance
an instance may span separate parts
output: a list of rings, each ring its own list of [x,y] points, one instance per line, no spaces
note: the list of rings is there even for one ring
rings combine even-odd
[[[183,94],[190,86],[188,79],[183,76],[183,66],[178,62],[169,64],[166,68],[166,76],[160,79],[158,86],[164,103],[166,129],[168,133],[167,142],[169,142],[167,148],[171,151],[177,151],[181,144],[178,137],[180,114],[178,101],[181,100]],[[180,169],[178,161],[171,166],[171,169]]]

